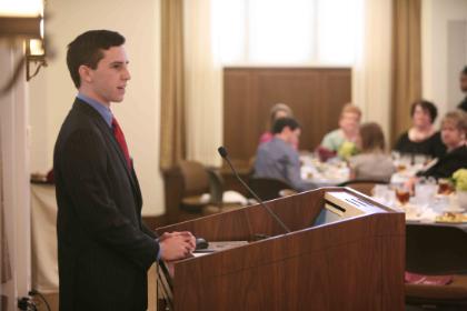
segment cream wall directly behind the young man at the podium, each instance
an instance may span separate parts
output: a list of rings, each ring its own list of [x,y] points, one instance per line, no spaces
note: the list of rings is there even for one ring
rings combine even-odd
[[[31,171],[52,165],[53,144],[77,93],[66,67],[66,47],[90,29],[127,38],[131,81],[112,110],[123,128],[143,193],[143,214],[163,213],[159,172],[160,2],[153,0],[48,1],[47,37],[56,52],[30,82]]]

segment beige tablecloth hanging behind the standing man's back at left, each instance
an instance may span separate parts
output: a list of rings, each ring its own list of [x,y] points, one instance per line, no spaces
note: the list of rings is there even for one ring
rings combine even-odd
[[[58,292],[56,188],[31,184],[32,288]]]

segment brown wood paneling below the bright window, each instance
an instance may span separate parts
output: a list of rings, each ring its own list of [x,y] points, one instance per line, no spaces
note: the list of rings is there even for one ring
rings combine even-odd
[[[226,68],[223,144],[239,167],[256,154],[269,109],[287,103],[300,122],[300,150],[314,150],[337,128],[341,107],[351,99],[349,68]]]

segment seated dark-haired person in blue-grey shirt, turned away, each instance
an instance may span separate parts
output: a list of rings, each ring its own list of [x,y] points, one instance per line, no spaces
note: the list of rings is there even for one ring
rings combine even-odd
[[[315,189],[300,177],[298,146],[300,126],[292,118],[280,118],[272,127],[272,140],[261,143],[255,161],[255,177],[274,178],[288,182],[295,190]]]

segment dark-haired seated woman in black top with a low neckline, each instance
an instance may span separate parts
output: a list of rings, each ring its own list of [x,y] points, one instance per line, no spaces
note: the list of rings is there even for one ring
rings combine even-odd
[[[425,154],[439,158],[446,153],[439,131],[434,122],[438,110],[433,102],[420,100],[411,104],[413,127],[397,140],[394,150],[405,154]]]

